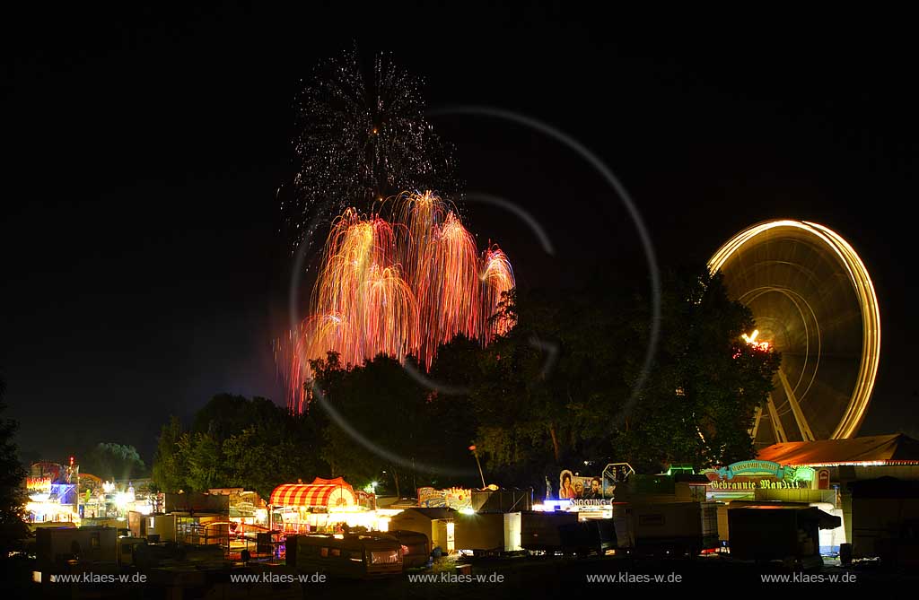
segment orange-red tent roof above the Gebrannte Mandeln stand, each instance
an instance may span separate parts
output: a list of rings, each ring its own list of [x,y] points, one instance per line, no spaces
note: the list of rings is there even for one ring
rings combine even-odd
[[[834,467],[864,462],[919,464],[919,441],[903,434],[891,436],[787,442],[763,448],[756,456],[783,465]]]

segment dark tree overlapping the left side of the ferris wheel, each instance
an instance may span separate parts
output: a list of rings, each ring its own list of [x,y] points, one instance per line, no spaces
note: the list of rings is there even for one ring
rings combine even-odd
[[[743,342],[754,325],[720,274],[704,267],[668,274],[652,376],[616,439],[633,467],[709,467],[754,456],[748,430],[780,360]]]

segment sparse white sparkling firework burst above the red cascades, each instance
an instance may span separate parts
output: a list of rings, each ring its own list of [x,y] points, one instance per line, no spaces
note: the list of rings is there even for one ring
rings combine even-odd
[[[322,62],[295,103],[298,173],[281,207],[295,243],[347,207],[403,189],[456,190],[452,157],[425,119],[422,83],[380,54],[368,80],[357,51]],[[283,198],[283,197],[282,197]]]

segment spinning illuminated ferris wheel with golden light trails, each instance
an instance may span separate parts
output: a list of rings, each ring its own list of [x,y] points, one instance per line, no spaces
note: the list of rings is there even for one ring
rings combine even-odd
[[[857,434],[880,357],[880,316],[868,270],[823,225],[764,221],[735,234],[709,260],[728,294],[753,311],[753,344],[782,355],[757,446]]]

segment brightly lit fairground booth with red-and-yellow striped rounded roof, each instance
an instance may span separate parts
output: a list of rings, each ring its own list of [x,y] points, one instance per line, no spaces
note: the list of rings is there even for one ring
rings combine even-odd
[[[343,526],[386,531],[389,524],[389,515],[377,511],[375,494],[355,490],[341,477],[279,485],[268,510],[269,526],[285,534],[338,533]]]

